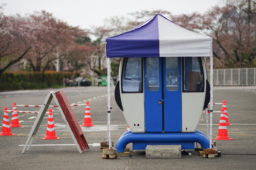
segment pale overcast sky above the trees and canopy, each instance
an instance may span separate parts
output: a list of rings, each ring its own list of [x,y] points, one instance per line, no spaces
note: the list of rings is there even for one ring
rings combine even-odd
[[[47,11],[71,26],[90,29],[103,26],[104,19],[128,16],[141,10],[165,10],[172,15],[204,13],[223,0],[0,0],[4,14],[20,14]]]

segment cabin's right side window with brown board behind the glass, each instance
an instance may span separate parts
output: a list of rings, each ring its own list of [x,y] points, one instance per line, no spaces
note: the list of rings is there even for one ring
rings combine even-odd
[[[204,92],[204,72],[200,57],[183,57],[183,92]]]

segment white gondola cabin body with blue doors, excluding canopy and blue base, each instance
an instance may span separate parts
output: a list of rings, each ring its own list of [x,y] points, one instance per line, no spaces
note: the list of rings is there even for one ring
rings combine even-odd
[[[118,81],[116,101],[132,133],[196,131],[206,91],[203,57],[122,58]]]

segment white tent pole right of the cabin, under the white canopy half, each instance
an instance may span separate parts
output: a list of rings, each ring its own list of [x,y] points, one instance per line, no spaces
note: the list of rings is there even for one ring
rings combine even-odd
[[[211,56],[210,56],[210,67],[211,67],[211,70],[210,70],[210,86],[211,86],[211,89],[210,89],[210,149],[212,148],[212,106],[213,106],[213,94],[212,94],[212,88],[213,88],[213,56],[212,56],[212,53],[211,53]]]

